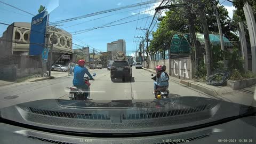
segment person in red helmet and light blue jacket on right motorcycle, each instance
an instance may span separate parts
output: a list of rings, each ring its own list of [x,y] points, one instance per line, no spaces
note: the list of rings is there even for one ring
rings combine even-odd
[[[165,66],[156,66],[156,81],[154,82],[154,94],[159,87],[169,86],[169,76],[165,72]]]

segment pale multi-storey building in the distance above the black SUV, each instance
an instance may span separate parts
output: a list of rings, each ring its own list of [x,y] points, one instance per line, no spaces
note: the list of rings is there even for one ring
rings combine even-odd
[[[124,39],[118,39],[115,42],[107,43],[107,51],[120,51],[126,54],[126,44]]]

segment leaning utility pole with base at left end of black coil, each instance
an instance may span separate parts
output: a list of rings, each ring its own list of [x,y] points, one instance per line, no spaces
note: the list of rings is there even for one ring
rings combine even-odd
[[[198,2],[199,2],[199,7],[198,7],[199,15],[200,15],[200,19],[201,19],[203,30],[204,30],[206,73],[207,73],[207,77],[209,77],[211,75],[211,51],[210,51],[211,47],[210,47],[209,30],[208,30],[208,26],[205,18],[205,12],[204,12],[205,5],[202,4],[201,0],[199,0]]]

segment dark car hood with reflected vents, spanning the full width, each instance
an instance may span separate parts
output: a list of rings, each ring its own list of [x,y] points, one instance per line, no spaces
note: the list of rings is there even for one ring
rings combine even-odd
[[[202,97],[162,100],[45,99],[0,110],[2,121],[81,133],[168,131],[255,113],[255,107]]]

